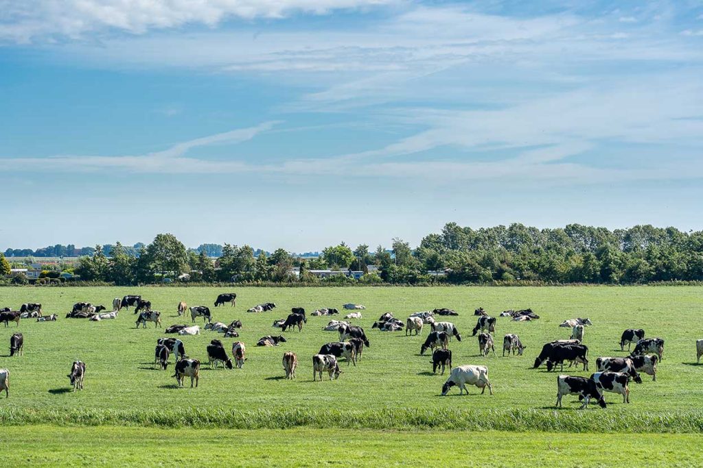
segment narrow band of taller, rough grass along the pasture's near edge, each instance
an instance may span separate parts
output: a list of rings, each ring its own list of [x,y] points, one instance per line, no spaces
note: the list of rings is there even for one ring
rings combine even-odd
[[[384,410],[109,410],[46,408],[0,409],[0,424],[60,426],[142,426],[222,429],[443,429],[512,432],[703,432],[703,410],[666,413],[612,413],[607,410],[459,410],[387,408]]]

